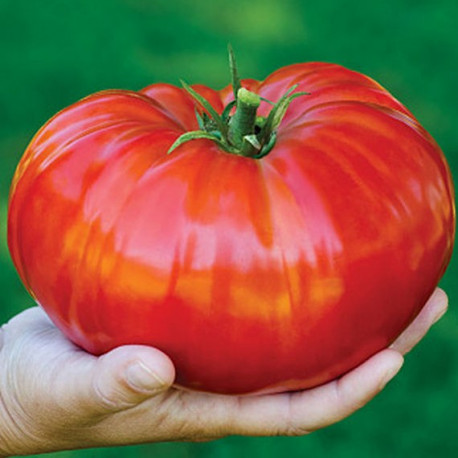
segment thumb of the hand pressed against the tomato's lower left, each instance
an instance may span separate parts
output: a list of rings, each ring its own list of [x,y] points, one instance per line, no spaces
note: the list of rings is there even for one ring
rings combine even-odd
[[[87,401],[99,413],[124,410],[167,390],[175,378],[172,361],[160,350],[140,345],[115,348],[91,368]]]

